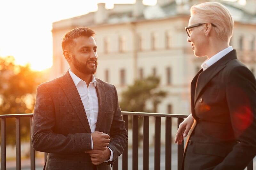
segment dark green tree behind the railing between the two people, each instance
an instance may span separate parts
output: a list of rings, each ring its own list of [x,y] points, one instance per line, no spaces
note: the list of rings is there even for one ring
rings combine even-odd
[[[153,76],[136,80],[121,94],[121,110],[156,113],[157,105],[167,95],[167,92],[159,90],[159,84],[160,78]],[[149,109],[147,104],[152,104],[152,109]],[[142,121],[139,120],[139,127],[141,125]],[[128,120],[128,128],[131,128],[131,120]]]

